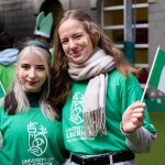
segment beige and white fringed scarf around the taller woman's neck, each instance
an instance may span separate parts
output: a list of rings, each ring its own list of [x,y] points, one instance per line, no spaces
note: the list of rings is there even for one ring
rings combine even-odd
[[[106,96],[108,72],[114,68],[113,57],[106,55],[103,50],[96,53],[84,64],[69,62],[68,73],[74,80],[90,79],[84,98],[85,135],[107,134]],[[90,133],[89,133],[90,132]]]

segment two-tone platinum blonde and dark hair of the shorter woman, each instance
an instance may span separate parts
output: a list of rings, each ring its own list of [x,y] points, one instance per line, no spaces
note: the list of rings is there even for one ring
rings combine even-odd
[[[51,81],[51,54],[46,47],[38,46],[38,45],[28,45],[23,47],[16,59],[16,64],[19,65],[22,61],[22,56],[34,53],[38,55],[44,64],[46,70],[46,80],[42,86],[41,97],[40,97],[40,107],[46,117],[51,120],[57,119],[57,112],[52,106],[48,103],[47,98],[50,95],[50,81]],[[11,91],[4,97],[4,111],[8,114],[15,114],[21,111],[28,111],[30,109],[30,102],[25,95],[25,91],[22,88],[22,84],[20,82],[16,70],[15,70],[15,78],[13,80],[13,85],[11,87]]]

